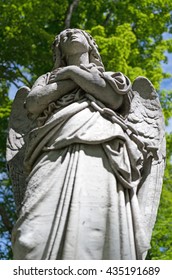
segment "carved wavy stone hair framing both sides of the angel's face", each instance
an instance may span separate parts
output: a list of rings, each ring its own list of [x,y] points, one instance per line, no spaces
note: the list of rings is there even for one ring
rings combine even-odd
[[[103,66],[99,51],[98,51],[98,46],[97,46],[96,42],[94,41],[94,39],[91,37],[91,35],[89,33],[85,32],[84,30],[81,30],[81,29],[74,29],[74,30],[78,30],[79,32],[81,32],[88,41],[88,44],[90,46],[89,63],[96,64],[97,67],[103,71],[104,66]],[[58,34],[55,37],[55,40],[52,44],[54,68],[66,66],[65,57],[62,55],[62,50],[60,48],[60,40],[61,40],[61,35],[63,34],[63,32],[64,31],[62,31],[60,34]]]

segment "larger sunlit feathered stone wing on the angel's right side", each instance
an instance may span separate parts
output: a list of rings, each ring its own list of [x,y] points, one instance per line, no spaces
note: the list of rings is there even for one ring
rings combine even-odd
[[[138,77],[132,89],[134,97],[126,123],[136,131],[136,138],[143,143],[146,151],[137,196],[144,217],[144,228],[150,239],[165,168],[165,124],[159,98],[151,82],[144,77]]]

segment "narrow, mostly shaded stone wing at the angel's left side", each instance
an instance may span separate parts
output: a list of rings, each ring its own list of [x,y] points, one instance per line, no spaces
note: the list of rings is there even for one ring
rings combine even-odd
[[[30,89],[21,87],[15,96],[9,118],[9,131],[7,137],[6,159],[12,180],[14,199],[19,211],[24,192],[26,175],[23,169],[25,143],[31,128],[31,121],[27,117],[24,107]]]

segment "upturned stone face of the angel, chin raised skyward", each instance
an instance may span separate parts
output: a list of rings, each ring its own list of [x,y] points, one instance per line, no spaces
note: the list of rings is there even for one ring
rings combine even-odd
[[[66,29],[60,34],[60,47],[63,55],[82,54],[89,51],[89,43],[79,29]]]

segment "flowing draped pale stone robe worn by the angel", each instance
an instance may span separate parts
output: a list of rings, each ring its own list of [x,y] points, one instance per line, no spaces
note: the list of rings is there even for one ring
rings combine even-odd
[[[101,75],[123,94],[124,108],[127,78]],[[150,247],[137,198],[143,155],[113,114],[77,89],[39,116],[25,155],[29,175],[13,229],[14,259],[143,258]]]

